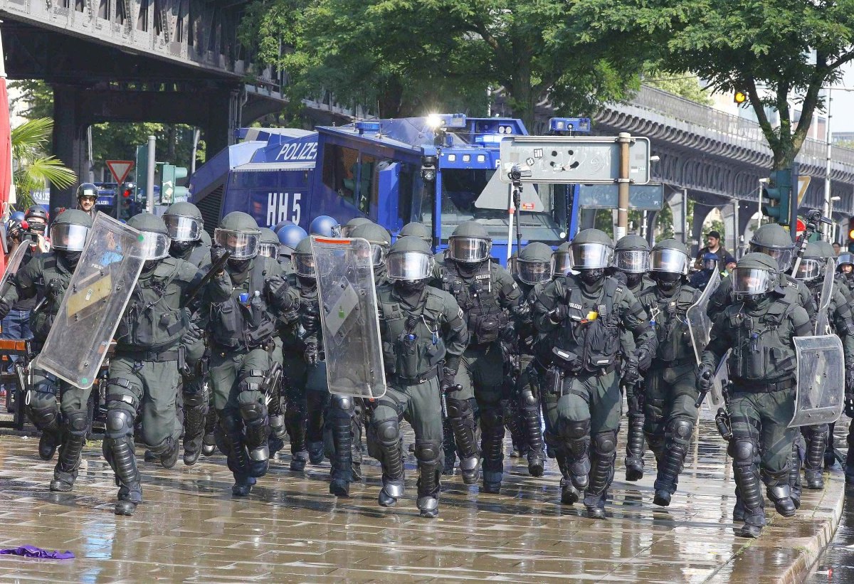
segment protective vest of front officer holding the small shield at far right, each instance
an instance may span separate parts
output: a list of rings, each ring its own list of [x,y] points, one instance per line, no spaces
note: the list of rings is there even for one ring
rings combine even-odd
[[[734,379],[775,383],[792,377],[798,362],[788,341],[794,334],[788,316],[797,305],[790,298],[786,295],[773,301],[762,316],[750,316],[744,305],[727,311],[728,325],[736,333],[729,359],[729,373]]]

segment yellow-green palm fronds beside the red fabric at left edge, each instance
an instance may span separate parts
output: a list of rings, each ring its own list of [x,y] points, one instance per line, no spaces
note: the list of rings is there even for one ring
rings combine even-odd
[[[12,129],[12,180],[20,208],[32,205],[32,191],[44,190],[48,183],[64,189],[77,179],[73,170],[63,166],[61,160],[45,154],[44,148],[50,143],[52,132],[50,118],[27,120]]]

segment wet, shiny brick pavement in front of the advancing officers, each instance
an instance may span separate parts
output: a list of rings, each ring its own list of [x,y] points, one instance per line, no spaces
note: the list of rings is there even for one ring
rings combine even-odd
[[[232,499],[231,474],[219,455],[173,470],[140,463],[145,502],[136,516],[115,517],[116,488],[100,443],[86,448],[72,493],[48,491],[53,461],[40,460],[36,450],[32,438],[0,437],[0,546],[71,550],[77,559],[3,557],[3,581],[755,584],[776,581],[798,564],[809,569],[810,538],[828,529],[841,490],[837,473],[825,492],[804,492],[793,519],[776,516],[771,506],[762,538],[735,538],[731,470],[711,419],[700,423],[669,508],[652,505],[654,460],[647,453],[646,476],[638,483],[623,482],[620,464],[609,519],[598,523],[583,517],[582,506],[559,505],[553,460],[535,479],[522,459],[507,458],[500,495],[479,495],[459,475],[446,477],[433,520],[418,517],[411,454],[407,493],[392,509],[377,506],[380,472],[369,459],[366,482],[354,484],[351,499],[328,493],[328,463],[294,473],[287,470],[289,456],[272,464],[247,499]]]

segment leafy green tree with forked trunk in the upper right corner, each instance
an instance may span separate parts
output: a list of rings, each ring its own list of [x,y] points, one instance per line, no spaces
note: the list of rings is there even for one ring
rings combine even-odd
[[[823,107],[822,86],[854,59],[854,0],[575,0],[572,15],[590,42],[610,39],[663,72],[745,91],[775,170],[791,166]]]

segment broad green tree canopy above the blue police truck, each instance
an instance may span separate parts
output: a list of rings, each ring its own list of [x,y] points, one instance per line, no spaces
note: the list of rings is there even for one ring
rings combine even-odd
[[[325,89],[383,116],[454,103],[483,114],[487,88],[500,87],[530,126],[540,102],[590,114],[628,97],[642,65],[580,42],[564,0],[274,0],[252,14],[243,41],[288,71],[292,96]]]

